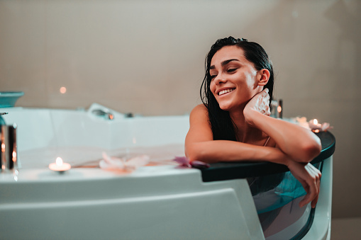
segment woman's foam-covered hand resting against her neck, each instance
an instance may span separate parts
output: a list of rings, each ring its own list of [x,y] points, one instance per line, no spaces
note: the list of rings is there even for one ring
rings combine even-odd
[[[264,115],[270,116],[270,95],[268,95],[268,88],[265,88],[260,93],[257,93],[251,100],[245,105],[243,110],[243,115],[245,115],[245,122],[250,125],[253,124],[252,113],[262,113]]]

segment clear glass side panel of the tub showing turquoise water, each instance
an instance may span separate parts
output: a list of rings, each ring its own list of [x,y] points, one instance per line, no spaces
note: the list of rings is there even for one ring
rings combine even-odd
[[[321,163],[313,166],[321,169]],[[299,207],[306,191],[291,172],[248,178],[248,183],[266,239],[291,239],[307,224],[311,205]]]

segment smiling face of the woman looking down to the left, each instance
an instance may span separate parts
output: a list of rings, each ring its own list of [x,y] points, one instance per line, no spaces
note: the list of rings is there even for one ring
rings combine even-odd
[[[211,59],[209,74],[211,92],[222,110],[241,109],[241,105],[263,88],[258,85],[261,75],[237,46],[218,50]]]

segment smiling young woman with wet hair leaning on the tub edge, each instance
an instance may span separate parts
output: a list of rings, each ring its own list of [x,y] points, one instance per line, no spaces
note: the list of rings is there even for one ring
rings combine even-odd
[[[189,117],[185,153],[190,161],[284,164],[306,190],[300,207],[315,207],[321,172],[309,162],[321,142],[304,127],[270,117],[273,81],[272,62],[259,44],[217,40],[206,57],[204,104]]]

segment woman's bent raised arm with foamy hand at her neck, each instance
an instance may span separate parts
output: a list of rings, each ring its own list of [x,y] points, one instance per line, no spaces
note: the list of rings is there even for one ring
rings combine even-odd
[[[268,89],[254,96],[243,110],[246,122],[270,136],[277,147],[294,161],[308,163],[318,156],[320,139],[304,127],[265,115],[268,103]]]

